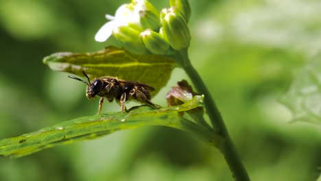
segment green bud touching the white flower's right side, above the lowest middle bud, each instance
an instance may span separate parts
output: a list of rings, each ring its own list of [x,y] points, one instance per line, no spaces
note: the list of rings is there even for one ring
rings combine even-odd
[[[150,28],[156,30],[160,27],[159,15],[154,14],[151,11],[139,11],[139,16],[141,16],[141,27],[143,29]]]

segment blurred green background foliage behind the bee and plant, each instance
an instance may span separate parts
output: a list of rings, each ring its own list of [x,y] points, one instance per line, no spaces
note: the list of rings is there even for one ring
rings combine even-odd
[[[0,138],[95,114],[84,84],[49,70],[57,51],[97,51],[97,30],[128,1],[0,0]],[[167,1],[151,1],[158,10]],[[321,49],[321,1],[190,1],[190,58],[209,86],[252,180],[316,180],[320,127],[289,123],[278,99]],[[175,69],[154,97],[186,77]],[[104,112],[119,111],[106,104]],[[222,154],[169,128],[116,132],[95,141],[0,158],[0,180],[233,180]]]

